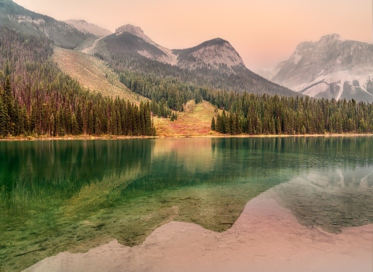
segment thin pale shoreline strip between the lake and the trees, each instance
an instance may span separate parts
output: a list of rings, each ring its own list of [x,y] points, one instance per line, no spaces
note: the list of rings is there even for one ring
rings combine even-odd
[[[0,138],[0,141],[37,141],[37,140],[121,140],[121,139],[178,139],[178,138],[274,138],[274,137],[369,137],[373,134],[296,134],[296,135],[177,135],[177,136],[28,136]]]

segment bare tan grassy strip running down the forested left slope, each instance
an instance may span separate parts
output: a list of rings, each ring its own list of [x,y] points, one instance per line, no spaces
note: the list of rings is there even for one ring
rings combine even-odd
[[[119,81],[119,76],[95,57],[63,48],[55,48],[53,54],[61,70],[78,80],[83,87],[104,96],[128,99],[132,102],[147,100],[130,91]]]

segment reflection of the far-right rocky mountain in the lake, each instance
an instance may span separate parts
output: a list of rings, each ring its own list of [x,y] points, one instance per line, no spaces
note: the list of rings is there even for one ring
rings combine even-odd
[[[305,226],[340,233],[373,222],[373,167],[320,171],[274,190],[279,203]]]

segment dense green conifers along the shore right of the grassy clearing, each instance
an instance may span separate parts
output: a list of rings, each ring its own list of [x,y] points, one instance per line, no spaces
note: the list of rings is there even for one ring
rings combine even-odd
[[[355,100],[203,92],[223,110],[211,129],[223,134],[373,133],[373,104]]]

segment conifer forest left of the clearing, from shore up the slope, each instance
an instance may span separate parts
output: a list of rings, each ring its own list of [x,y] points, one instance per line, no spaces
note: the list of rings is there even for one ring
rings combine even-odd
[[[50,40],[0,27],[0,136],[152,136],[150,103],[84,90],[51,60]]]

